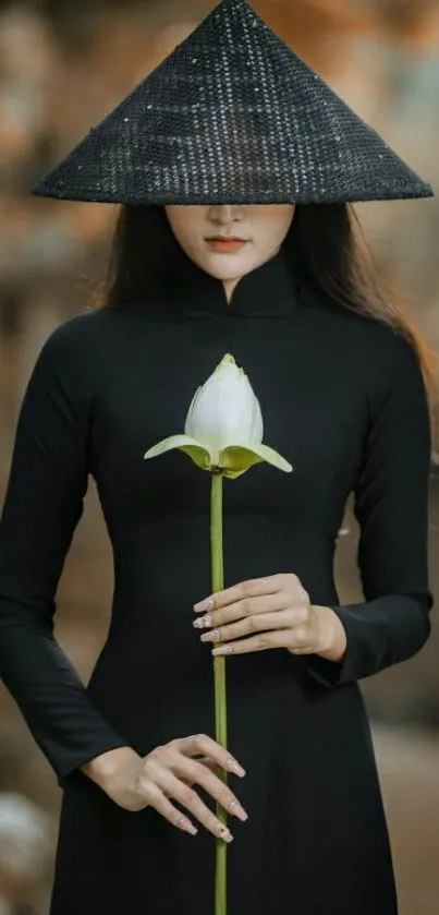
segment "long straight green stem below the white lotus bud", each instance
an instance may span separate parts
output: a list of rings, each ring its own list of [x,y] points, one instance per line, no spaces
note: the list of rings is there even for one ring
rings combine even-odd
[[[216,593],[222,591],[224,587],[222,473],[211,474],[210,545],[212,593]],[[222,747],[227,747],[225,658],[223,655],[214,659],[214,677],[216,739]],[[217,774],[221,781],[227,782],[224,769],[218,769]],[[220,804],[217,804],[217,816],[220,822],[227,826],[227,810]],[[227,843],[222,839],[217,839],[215,915],[227,915]]]

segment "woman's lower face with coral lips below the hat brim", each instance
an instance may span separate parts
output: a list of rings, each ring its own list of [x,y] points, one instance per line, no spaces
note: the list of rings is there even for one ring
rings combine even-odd
[[[166,206],[183,251],[224,284],[270,261],[294,216],[293,204]]]

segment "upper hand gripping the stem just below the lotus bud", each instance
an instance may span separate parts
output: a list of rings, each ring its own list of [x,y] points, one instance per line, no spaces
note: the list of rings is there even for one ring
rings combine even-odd
[[[286,648],[292,654],[319,654],[341,661],[346,650],[343,624],[329,606],[310,603],[296,575],[242,581],[212,594],[194,610],[204,614],[195,619],[195,628],[209,630],[202,641],[221,643],[214,654]]]

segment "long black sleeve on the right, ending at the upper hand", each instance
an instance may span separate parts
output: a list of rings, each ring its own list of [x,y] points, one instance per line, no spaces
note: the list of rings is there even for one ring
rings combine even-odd
[[[390,386],[379,406],[373,405],[355,486],[365,602],[331,607],[347,636],[342,663],[308,659],[309,672],[329,686],[362,679],[406,661],[420,650],[430,631],[428,404],[413,348],[398,339],[395,349]]]

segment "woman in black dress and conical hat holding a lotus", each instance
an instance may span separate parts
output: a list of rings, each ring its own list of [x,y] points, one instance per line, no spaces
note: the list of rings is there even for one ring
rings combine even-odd
[[[221,834],[230,915],[394,915],[357,681],[428,637],[430,426],[422,349],[362,277],[346,201],[431,191],[225,0],[36,192],[123,204],[108,306],[60,327],[33,373],[1,527],[1,673],[64,790],[51,913],[205,915]],[[225,486],[210,595],[209,475],[143,456],[225,352],[294,473]],[[115,583],[85,689],[52,617],[89,473]],[[365,602],[341,606],[353,490]]]

